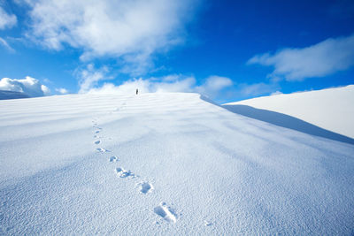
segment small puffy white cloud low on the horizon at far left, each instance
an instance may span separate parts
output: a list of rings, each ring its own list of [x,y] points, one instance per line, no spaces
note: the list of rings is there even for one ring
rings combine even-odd
[[[3,78],[0,80],[0,90],[20,92],[31,97],[50,95],[49,88],[29,76],[21,80]]]

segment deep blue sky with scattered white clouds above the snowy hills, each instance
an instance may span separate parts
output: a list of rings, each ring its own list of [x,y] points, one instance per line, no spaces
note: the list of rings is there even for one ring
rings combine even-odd
[[[0,90],[228,103],[350,84],[352,0],[0,0]]]

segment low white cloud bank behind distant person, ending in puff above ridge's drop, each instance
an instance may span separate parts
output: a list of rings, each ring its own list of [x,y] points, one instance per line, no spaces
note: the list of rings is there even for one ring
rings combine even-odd
[[[139,93],[164,93],[164,92],[196,92],[208,95],[211,98],[232,85],[232,81],[226,77],[211,76],[201,86],[196,86],[196,79],[193,76],[168,75],[161,78],[149,78],[146,80],[127,80],[119,86],[112,83],[105,83],[101,88],[92,88],[89,94],[134,94],[135,89]]]

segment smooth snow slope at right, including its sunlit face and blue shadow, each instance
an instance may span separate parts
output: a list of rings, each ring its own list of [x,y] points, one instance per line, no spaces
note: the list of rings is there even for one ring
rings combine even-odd
[[[354,85],[258,97],[224,107],[278,126],[354,143]]]

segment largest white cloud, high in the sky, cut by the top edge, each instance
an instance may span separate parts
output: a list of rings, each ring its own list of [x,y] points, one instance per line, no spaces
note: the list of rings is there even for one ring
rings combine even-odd
[[[119,58],[141,74],[151,56],[183,42],[199,0],[19,0],[30,7],[27,36],[49,49],[81,49],[81,60]]]

